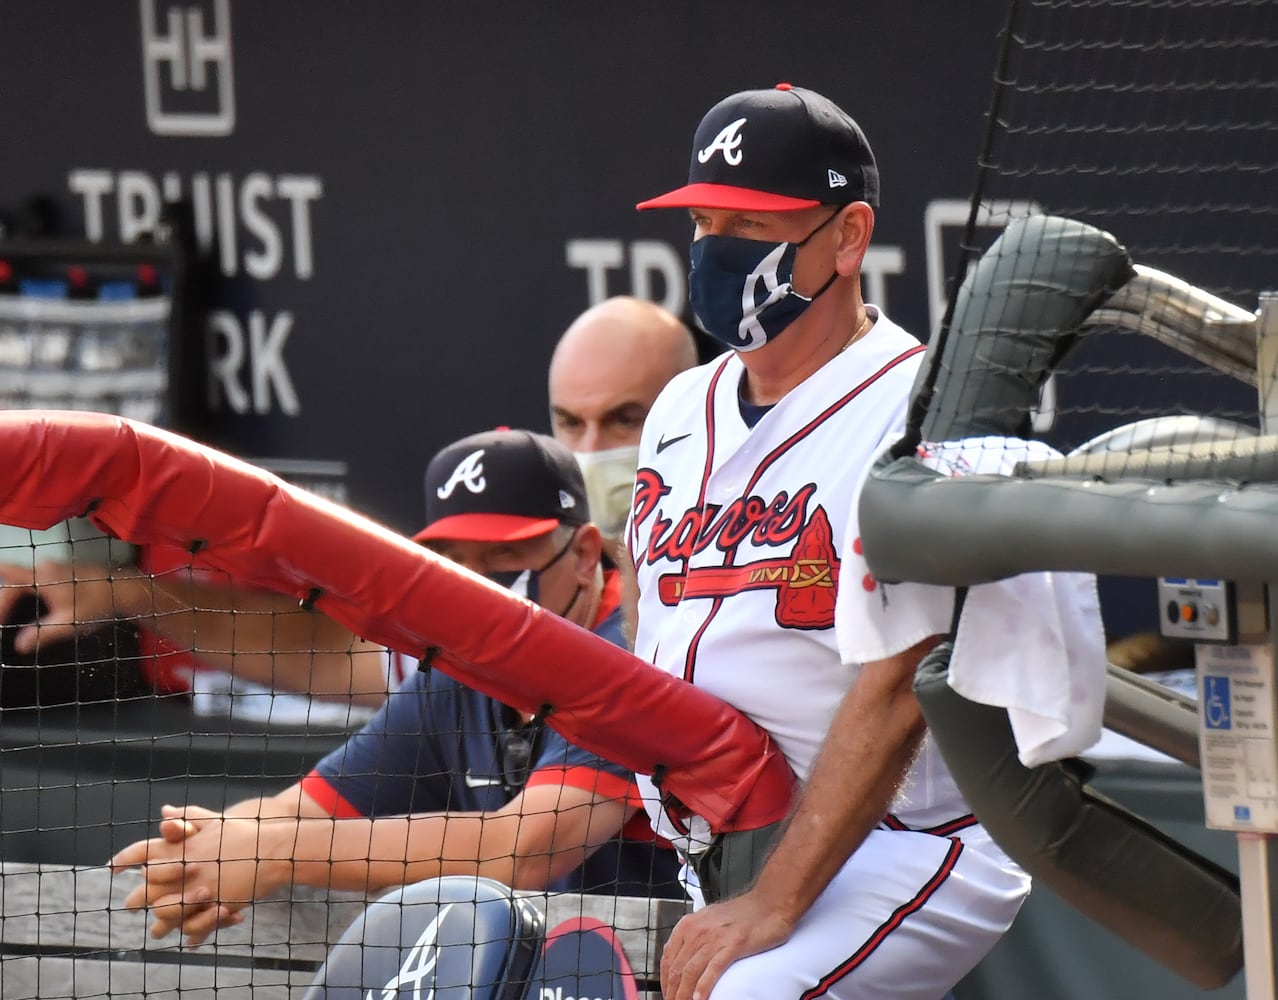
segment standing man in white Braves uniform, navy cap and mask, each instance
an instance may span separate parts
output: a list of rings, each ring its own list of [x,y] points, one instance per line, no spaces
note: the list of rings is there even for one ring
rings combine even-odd
[[[836,602],[884,600],[841,565],[923,352],[861,299],[878,191],[858,124],[778,84],[712,107],[689,183],[638,206],[691,216],[691,304],[731,350],[676,376],[644,427],[635,652],[746,712],[801,780],[771,853],[721,902],[725,844],[677,802],[649,806],[711,902],[666,946],[666,1000],[937,1000],[1029,891],[927,739],[912,678],[934,629],[841,655],[856,643]]]

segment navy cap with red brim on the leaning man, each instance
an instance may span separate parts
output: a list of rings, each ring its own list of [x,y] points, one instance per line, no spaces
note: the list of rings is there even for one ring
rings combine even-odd
[[[589,519],[573,453],[553,437],[501,428],[454,441],[431,459],[426,527],[413,540],[514,542]]]

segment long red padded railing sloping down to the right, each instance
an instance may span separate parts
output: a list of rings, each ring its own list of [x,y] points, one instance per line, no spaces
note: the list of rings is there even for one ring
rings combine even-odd
[[[134,545],[293,595],[640,774],[714,831],[785,816],[795,779],[767,731],[712,694],[262,469],[121,417],[0,413],[0,522],[87,514]]]

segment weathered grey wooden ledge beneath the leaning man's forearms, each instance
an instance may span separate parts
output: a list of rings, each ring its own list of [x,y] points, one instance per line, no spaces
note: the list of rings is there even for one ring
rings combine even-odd
[[[155,941],[147,916],[124,909],[141,884],[137,871],[101,867],[0,864],[0,962],[5,996],[101,995],[114,1000],[181,1000],[227,990],[254,1000],[300,997],[328,946],[362,912],[366,899],[298,886],[257,903],[245,921],[198,948],[176,935]],[[521,893],[556,926],[592,917],[617,932],[644,1000],[657,992],[661,946],[685,905],[670,899]],[[92,985],[89,987],[89,985]],[[240,994],[239,991],[244,991]],[[250,991],[250,992],[249,992]]]

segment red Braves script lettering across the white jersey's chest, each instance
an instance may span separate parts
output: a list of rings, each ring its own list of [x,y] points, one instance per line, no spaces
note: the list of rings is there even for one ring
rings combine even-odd
[[[670,487],[659,473],[639,471],[635,481],[635,527],[656,513],[644,554],[649,565],[661,559],[690,559],[711,545],[731,552],[746,537],[754,545],[785,545],[799,535],[808,520],[808,501],[817,492],[817,485],[808,483],[794,496],[781,490],[772,500],[751,494],[727,506],[705,504],[689,508],[674,520],[657,510],[657,504],[668,492]]]

